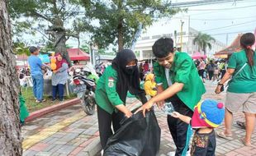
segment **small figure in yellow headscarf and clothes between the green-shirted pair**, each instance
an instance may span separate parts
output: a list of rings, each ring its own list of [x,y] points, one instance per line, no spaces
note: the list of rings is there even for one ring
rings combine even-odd
[[[154,74],[148,74],[146,76],[144,89],[146,94],[149,94],[151,97],[154,97],[154,95],[157,94],[156,83],[154,81]]]

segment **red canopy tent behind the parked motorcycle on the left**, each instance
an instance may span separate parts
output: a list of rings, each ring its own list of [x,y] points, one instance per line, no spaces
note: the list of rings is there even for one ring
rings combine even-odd
[[[71,61],[85,61],[90,59],[90,55],[88,53],[84,53],[80,48],[68,48],[67,51]]]

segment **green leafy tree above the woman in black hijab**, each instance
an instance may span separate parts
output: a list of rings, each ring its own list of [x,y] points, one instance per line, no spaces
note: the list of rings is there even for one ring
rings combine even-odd
[[[153,21],[163,16],[172,16],[181,11],[171,7],[171,1],[132,1],[132,0],[96,0],[84,2],[85,16],[98,21],[91,28],[92,40],[99,48],[109,44],[118,44],[118,51],[130,46],[136,31],[152,25]],[[83,24],[83,21],[80,21]],[[88,28],[88,27],[87,27]]]

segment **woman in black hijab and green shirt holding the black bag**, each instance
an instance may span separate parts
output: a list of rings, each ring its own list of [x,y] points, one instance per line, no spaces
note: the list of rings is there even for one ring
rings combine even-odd
[[[124,117],[132,113],[126,108],[126,96],[129,90],[142,103],[146,103],[145,91],[140,89],[140,74],[135,53],[124,49],[117,53],[111,66],[107,67],[97,81],[95,99],[97,103],[97,118],[102,149],[107,145],[107,139],[120,128]]]

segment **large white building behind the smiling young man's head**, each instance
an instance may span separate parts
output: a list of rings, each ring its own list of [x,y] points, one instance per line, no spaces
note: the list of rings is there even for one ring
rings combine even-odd
[[[183,30],[181,30],[182,23]],[[172,38],[174,47],[178,48],[182,45],[182,51],[192,55],[192,53],[198,50],[197,45],[192,44],[192,40],[195,38],[195,36],[197,36],[198,31],[192,29],[192,27],[189,25],[190,20],[188,16],[184,16],[182,21],[173,17],[173,19],[164,19],[154,23],[140,35],[140,39],[138,39],[135,45],[135,52],[140,53],[139,60],[150,59],[154,57],[152,53],[152,46],[154,42],[161,37]],[[225,44],[218,40],[216,40],[215,43],[211,43],[211,46],[211,50],[206,50],[208,57],[211,57],[220,49],[225,48]]]

